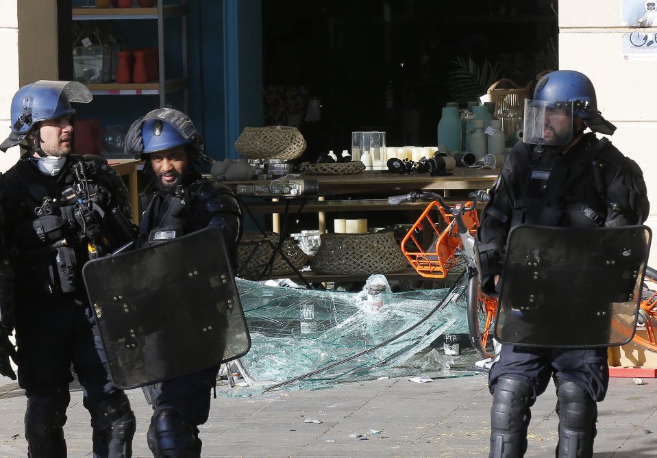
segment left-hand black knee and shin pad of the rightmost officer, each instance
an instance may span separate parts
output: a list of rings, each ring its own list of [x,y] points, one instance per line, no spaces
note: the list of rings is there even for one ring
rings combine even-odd
[[[527,450],[527,427],[532,418],[532,386],[519,379],[499,377],[491,407],[489,458],[522,457]]]

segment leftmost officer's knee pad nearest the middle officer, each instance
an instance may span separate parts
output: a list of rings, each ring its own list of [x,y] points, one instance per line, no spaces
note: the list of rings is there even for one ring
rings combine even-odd
[[[91,407],[94,455],[130,458],[136,419],[124,392],[118,392]]]

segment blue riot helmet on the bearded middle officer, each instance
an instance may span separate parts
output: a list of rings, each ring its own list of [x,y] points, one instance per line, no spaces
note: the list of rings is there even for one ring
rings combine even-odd
[[[203,137],[194,127],[192,120],[179,110],[158,108],[136,120],[125,136],[125,152],[141,155],[190,145],[197,157],[212,164],[210,157],[203,153]]]

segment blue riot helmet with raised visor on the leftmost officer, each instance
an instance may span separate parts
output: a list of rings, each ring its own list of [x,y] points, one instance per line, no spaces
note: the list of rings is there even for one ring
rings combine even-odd
[[[77,81],[39,80],[23,86],[14,94],[9,137],[0,144],[1,151],[23,142],[40,121],[74,114],[71,102],[89,103],[90,90]]]

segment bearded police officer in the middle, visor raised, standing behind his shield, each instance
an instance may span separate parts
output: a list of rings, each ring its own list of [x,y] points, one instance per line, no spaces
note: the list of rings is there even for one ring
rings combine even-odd
[[[195,169],[194,162],[211,160],[203,154],[203,138],[190,118],[171,108],[153,110],[132,124],[125,148],[142,154],[157,189],[139,227],[139,246],[215,227],[223,233],[235,268],[240,207],[229,188],[203,179]],[[201,370],[148,387],[153,416],[147,438],[153,456],[201,456],[198,425],[208,420],[218,371]]]

